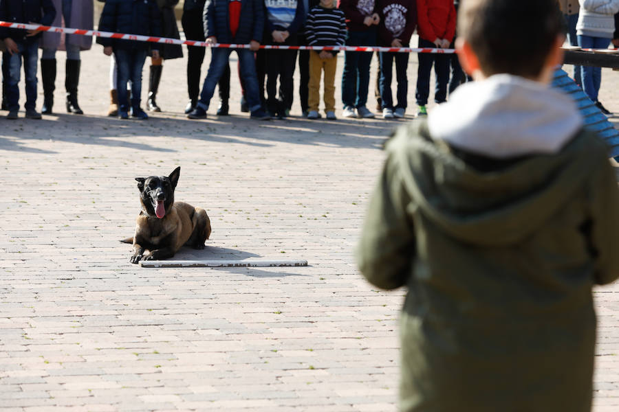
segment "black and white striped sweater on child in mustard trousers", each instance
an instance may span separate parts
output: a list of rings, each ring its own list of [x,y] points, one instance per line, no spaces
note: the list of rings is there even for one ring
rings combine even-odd
[[[307,14],[305,34],[310,46],[344,45],[346,41],[346,17],[337,8],[316,5]],[[337,54],[332,51],[332,54]]]

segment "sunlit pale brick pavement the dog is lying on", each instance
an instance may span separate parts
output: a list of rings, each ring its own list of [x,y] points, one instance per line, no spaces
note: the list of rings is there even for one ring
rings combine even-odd
[[[232,116],[189,121],[185,60],[164,64],[164,113],[110,119],[108,60],[100,47],[83,58],[86,115],[62,113],[61,54],[58,114],[0,119],[0,411],[395,411],[404,290],[371,288],[353,249],[398,122],[310,122],[297,106],[255,122],[239,113],[234,75]],[[413,56],[409,107],[415,69]],[[602,84],[619,111],[619,76]],[[133,178],[177,165],[177,200],[213,222],[208,247],[178,259],[310,266],[130,264],[118,239],[139,211]],[[596,306],[595,411],[616,411],[619,286],[597,290]]]

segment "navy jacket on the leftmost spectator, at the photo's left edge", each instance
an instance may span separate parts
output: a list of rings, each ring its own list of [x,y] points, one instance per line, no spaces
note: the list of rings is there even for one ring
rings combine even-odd
[[[56,18],[56,8],[52,0],[0,0],[0,21],[11,23],[39,23],[51,25]],[[26,37],[26,31],[0,27],[0,39],[7,37],[23,43],[38,41],[41,33]]]

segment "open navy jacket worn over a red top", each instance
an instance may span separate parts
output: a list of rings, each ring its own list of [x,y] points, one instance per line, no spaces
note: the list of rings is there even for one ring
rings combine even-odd
[[[262,42],[264,28],[263,0],[241,0],[241,16],[237,35],[230,32],[228,0],[207,0],[204,5],[204,37],[217,37],[219,43],[246,45],[255,40]]]

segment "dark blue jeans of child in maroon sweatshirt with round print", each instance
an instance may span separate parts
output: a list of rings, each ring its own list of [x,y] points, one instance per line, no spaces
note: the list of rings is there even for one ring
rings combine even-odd
[[[402,45],[402,47],[409,47],[409,45]],[[406,77],[406,69],[409,67],[409,54],[381,52],[378,57],[380,58],[379,87],[382,108],[393,109],[393,96],[391,95],[393,60],[395,60],[395,79],[398,80],[398,106],[395,106],[395,108],[406,108],[406,95],[409,93],[409,79]]]

